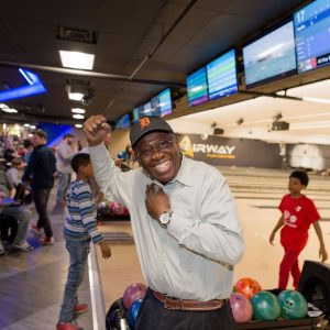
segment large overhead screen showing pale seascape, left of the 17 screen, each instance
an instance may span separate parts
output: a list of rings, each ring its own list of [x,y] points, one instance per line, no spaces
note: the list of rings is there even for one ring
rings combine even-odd
[[[246,88],[295,74],[293,21],[243,47]]]

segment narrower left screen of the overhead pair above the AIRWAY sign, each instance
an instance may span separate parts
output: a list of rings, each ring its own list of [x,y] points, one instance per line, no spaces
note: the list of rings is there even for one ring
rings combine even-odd
[[[187,94],[189,107],[198,106],[209,100],[205,67],[187,76]]]

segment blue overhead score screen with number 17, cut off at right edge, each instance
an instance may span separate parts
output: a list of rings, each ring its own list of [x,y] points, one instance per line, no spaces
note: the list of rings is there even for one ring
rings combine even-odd
[[[294,14],[298,73],[330,64],[330,0],[317,0]]]

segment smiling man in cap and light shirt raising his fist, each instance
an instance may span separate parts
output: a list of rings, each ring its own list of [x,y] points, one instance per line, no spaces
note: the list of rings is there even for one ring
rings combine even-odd
[[[148,285],[134,329],[233,329],[228,298],[244,249],[237,206],[223,176],[185,157],[172,128],[145,117],[130,132],[140,168],[119,172],[102,143],[106,118],[85,133],[96,180],[124,205]]]

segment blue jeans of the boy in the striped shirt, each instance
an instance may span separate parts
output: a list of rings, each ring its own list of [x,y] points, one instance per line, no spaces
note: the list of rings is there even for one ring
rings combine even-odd
[[[74,308],[77,304],[77,292],[84,279],[87,256],[90,250],[90,239],[79,240],[65,235],[65,240],[70,264],[64,290],[59,321],[70,322],[74,317]]]

